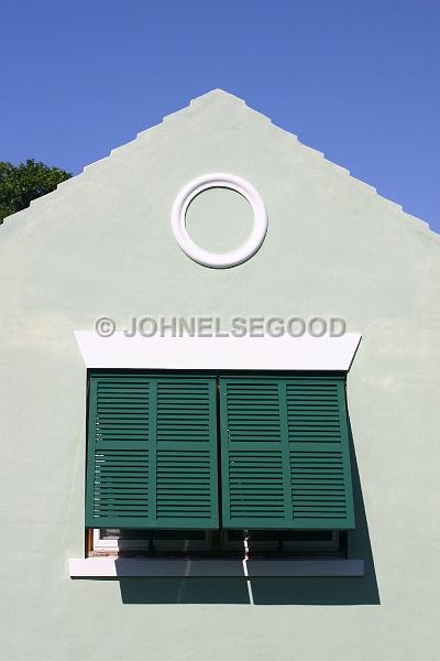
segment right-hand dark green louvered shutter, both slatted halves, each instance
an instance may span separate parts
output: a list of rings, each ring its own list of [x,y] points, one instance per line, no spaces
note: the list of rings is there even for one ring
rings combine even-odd
[[[226,528],[354,527],[344,380],[220,379]]]

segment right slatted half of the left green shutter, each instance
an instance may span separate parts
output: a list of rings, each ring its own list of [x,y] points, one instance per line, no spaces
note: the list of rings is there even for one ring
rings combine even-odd
[[[218,528],[216,379],[157,380],[157,528]]]

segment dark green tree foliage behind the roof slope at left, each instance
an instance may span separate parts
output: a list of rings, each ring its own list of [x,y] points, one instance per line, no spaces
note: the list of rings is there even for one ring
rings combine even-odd
[[[64,170],[48,167],[33,159],[20,165],[0,162],[0,224],[7,216],[29,207],[36,197],[55,191],[70,176]]]

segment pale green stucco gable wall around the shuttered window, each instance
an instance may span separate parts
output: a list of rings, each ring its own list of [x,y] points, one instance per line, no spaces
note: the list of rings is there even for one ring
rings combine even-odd
[[[262,249],[230,270],[196,264],[170,231],[177,192],[210,171],[249,180],[268,210]],[[197,214],[223,218],[217,202],[194,209],[199,237]],[[424,223],[220,91],[7,220],[0,657],[435,661],[439,258]],[[338,315],[363,335],[349,405],[381,605],[371,566],[364,579],[255,582],[255,606],[238,581],[69,579],[84,550],[86,398],[73,330],[100,315],[123,328],[134,315],[251,314]],[[351,552],[367,552],[356,533]]]

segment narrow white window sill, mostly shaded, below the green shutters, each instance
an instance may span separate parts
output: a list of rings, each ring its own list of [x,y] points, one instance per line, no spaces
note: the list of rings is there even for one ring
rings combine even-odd
[[[70,578],[363,576],[363,560],[176,560],[86,557],[69,560]]]

